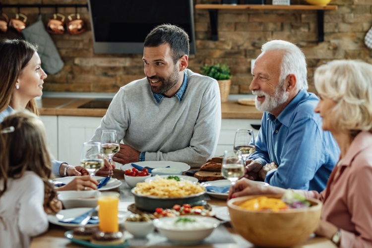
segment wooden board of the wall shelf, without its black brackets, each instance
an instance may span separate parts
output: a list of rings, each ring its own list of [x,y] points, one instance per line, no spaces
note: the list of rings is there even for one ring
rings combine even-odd
[[[197,9],[293,9],[293,10],[336,10],[337,5],[270,5],[270,4],[195,4]]]

